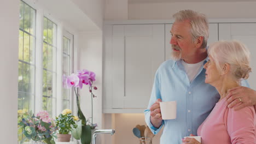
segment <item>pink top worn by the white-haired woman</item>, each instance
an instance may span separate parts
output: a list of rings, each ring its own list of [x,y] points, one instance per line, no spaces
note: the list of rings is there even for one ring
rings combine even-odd
[[[197,135],[202,144],[256,143],[256,116],[253,106],[235,111],[225,98],[216,103],[210,115],[200,125]]]

